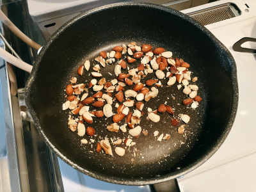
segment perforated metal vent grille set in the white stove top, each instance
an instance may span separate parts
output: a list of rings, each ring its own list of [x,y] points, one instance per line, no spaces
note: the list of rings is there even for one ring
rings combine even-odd
[[[237,8],[238,9],[238,8]],[[188,15],[193,19],[200,22],[203,26],[212,24],[214,22],[220,22],[221,20],[227,20],[240,15],[233,4],[222,4],[198,12],[189,13]]]

